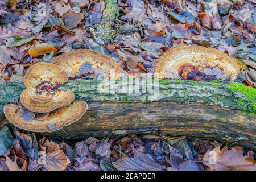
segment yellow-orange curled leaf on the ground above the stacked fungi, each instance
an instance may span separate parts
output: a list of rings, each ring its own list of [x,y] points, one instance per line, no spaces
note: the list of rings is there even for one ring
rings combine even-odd
[[[28,54],[32,57],[44,55],[45,53],[51,53],[57,52],[60,48],[57,46],[53,46],[48,43],[41,43],[31,46],[30,49],[28,49]]]

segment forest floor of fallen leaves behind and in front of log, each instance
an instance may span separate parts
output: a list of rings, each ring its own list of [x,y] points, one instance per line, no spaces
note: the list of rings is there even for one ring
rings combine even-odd
[[[104,31],[101,0],[0,1],[0,84],[22,81],[30,65],[88,48],[113,57],[130,76],[153,73],[180,44],[235,57],[237,82],[256,86],[256,1],[118,1]],[[1,145],[2,144],[2,145]],[[129,135],[81,141],[0,130],[2,170],[255,170],[255,154],[211,139]]]

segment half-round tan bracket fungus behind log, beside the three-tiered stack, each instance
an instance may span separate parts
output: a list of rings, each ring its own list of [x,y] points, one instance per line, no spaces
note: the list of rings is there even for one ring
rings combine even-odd
[[[82,74],[100,75],[102,73],[109,78],[121,77],[121,68],[112,57],[102,55],[101,53],[90,49],[65,52],[63,55],[55,58],[55,64],[59,65],[65,72],[67,72],[69,77],[75,77]],[[83,65],[89,69],[86,69],[86,71],[81,73],[80,71]]]

